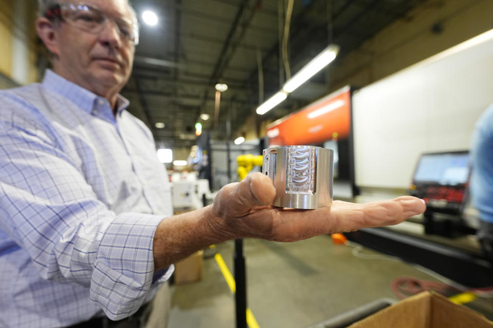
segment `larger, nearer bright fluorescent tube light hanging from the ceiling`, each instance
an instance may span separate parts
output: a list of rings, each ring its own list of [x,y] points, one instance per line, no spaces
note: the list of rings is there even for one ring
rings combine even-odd
[[[286,84],[282,87],[285,92],[293,92],[300,85],[304,84],[310,77],[318,73],[321,69],[329,65],[329,63],[335,59],[339,47],[336,45],[330,45],[320,52],[315,58],[305,65],[298,73],[293,75]]]

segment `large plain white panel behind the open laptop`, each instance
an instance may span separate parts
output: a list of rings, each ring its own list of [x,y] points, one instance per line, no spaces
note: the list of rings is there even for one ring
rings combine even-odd
[[[353,95],[355,182],[407,188],[421,153],[469,149],[493,103],[493,30]]]

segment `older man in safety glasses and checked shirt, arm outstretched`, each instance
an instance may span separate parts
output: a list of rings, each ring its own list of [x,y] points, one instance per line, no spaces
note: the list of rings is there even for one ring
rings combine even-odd
[[[212,206],[172,216],[153,137],[119,95],[138,43],[133,10],[125,0],[41,1],[41,13],[53,70],[0,92],[0,326],[134,318],[172,263],[212,243],[295,241],[424,211],[413,197],[276,209],[272,182],[253,174]]]

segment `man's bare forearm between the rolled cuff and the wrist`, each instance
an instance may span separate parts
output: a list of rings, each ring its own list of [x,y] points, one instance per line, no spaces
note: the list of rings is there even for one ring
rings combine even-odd
[[[212,206],[165,218],[154,235],[155,270],[168,267],[208,245],[233,239],[233,234],[218,231],[219,218]]]

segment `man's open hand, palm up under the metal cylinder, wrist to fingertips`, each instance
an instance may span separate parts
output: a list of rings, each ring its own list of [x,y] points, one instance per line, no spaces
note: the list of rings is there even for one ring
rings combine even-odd
[[[336,200],[331,207],[316,210],[282,209],[269,205],[275,194],[271,179],[261,173],[224,186],[212,207],[217,218],[214,230],[231,238],[296,241],[321,234],[389,226],[426,209],[421,199],[411,196],[366,204]]]

